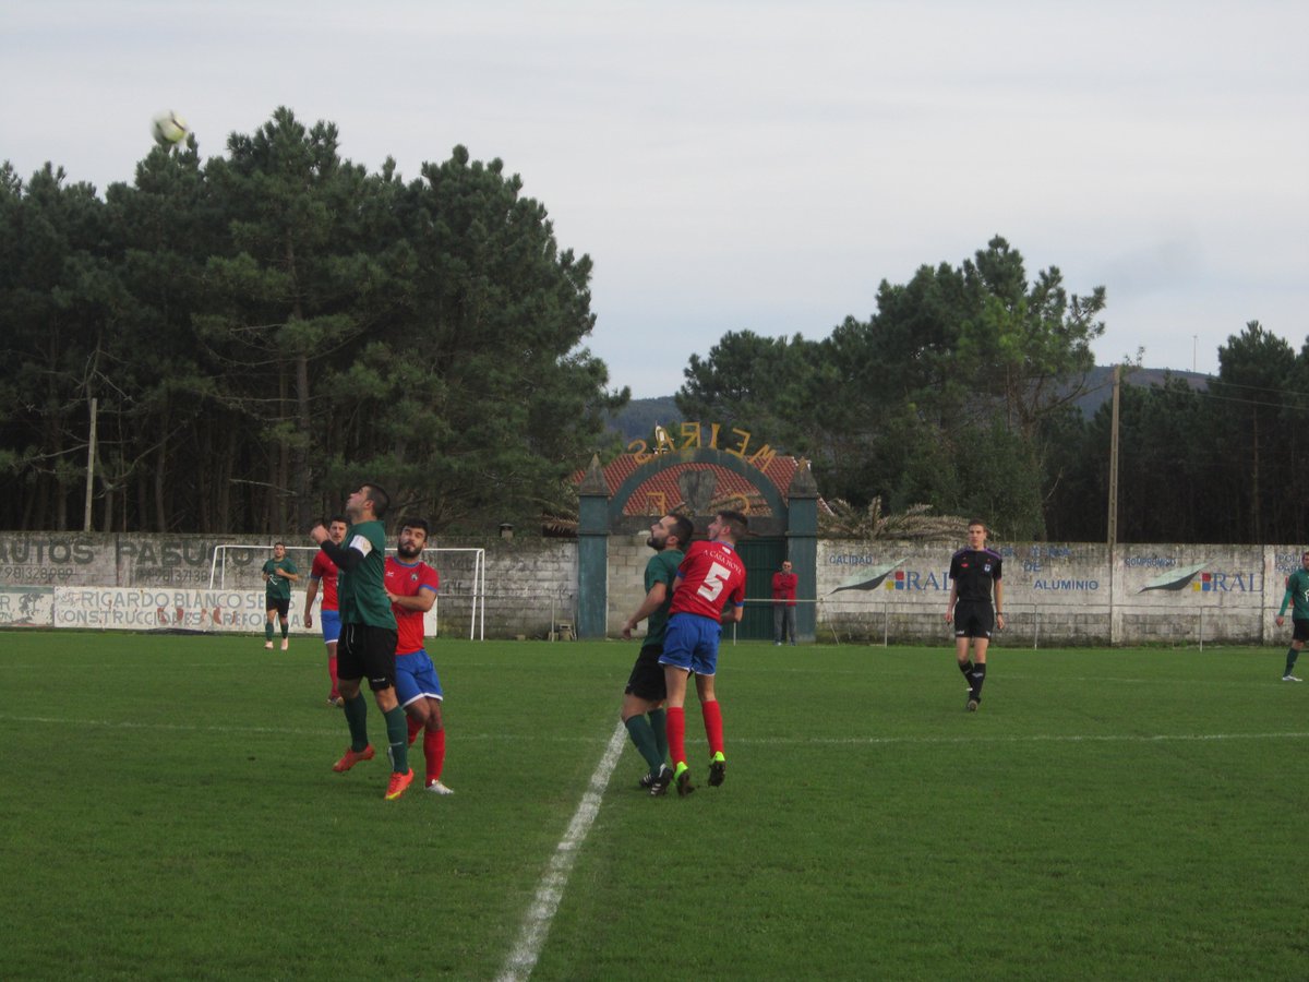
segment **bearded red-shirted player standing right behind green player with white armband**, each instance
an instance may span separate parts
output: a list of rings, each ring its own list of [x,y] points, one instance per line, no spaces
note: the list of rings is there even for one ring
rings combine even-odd
[[[427,761],[424,786],[433,795],[453,795],[441,783],[445,766],[445,723],[441,718],[441,680],[436,665],[423,647],[423,617],[436,602],[441,577],[423,562],[428,525],[421,518],[408,518],[401,526],[395,555],[386,559],[386,596],[395,613],[395,698],[408,718],[410,744],[423,732],[423,757]]]

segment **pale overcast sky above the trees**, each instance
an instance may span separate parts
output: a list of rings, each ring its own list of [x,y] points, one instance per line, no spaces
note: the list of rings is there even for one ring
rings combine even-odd
[[[996,234],[1105,287],[1100,364],[1216,372],[1309,334],[1306,38],[1302,0],[9,0],[0,158],[103,194],[160,110],[209,157],[283,105],[374,172],[499,157],[636,398]]]

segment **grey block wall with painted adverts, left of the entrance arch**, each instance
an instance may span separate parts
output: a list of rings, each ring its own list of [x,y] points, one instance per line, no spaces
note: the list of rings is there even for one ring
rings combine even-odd
[[[546,638],[572,622],[577,547],[567,539],[437,539],[424,558],[441,573],[429,634]],[[486,566],[478,568],[475,550]],[[317,547],[288,542],[308,577]],[[0,625],[255,631],[272,539],[206,536],[0,533]],[[484,583],[484,592],[475,587]],[[292,630],[302,631],[305,579],[295,584]]]

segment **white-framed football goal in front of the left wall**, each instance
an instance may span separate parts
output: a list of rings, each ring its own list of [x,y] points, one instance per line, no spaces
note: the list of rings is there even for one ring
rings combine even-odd
[[[300,581],[292,588],[295,594],[304,591],[309,580],[318,546],[287,546],[287,555],[300,572]],[[387,549],[386,555],[395,555]],[[209,589],[263,589],[260,570],[272,558],[272,547],[264,542],[221,542],[213,547],[209,562]],[[441,611],[446,622],[454,622],[462,630],[467,618],[469,639],[486,640],[486,594],[487,560],[486,550],[480,547],[432,546],[423,550],[423,562],[436,570],[441,587],[436,602],[425,618],[427,635],[440,636]],[[319,593],[319,598],[322,594]],[[302,601],[302,597],[301,597]]]

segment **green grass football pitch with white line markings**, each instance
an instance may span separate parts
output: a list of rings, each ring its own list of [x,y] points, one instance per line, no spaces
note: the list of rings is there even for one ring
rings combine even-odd
[[[313,639],[0,636],[0,977],[491,979],[551,869],[537,979],[1309,977],[1279,649],[997,648],[966,714],[946,646],[729,647],[728,780],[658,800],[635,646],[429,651],[457,793],[386,803]]]

